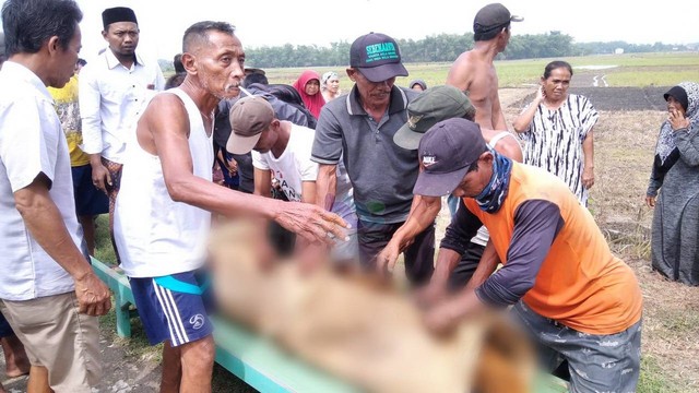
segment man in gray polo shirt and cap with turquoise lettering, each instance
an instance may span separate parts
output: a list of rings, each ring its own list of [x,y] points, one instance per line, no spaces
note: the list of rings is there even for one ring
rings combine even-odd
[[[370,33],[352,44],[347,75],[354,87],[325,104],[316,127],[311,156],[320,164],[316,202],[331,209],[342,158],[354,188],[359,254],[365,267],[374,267],[376,255],[405,222],[412,204],[419,203],[419,198],[413,202],[417,153],[393,143],[417,93],[393,85],[395,76],[407,76],[407,71],[398,44],[383,34]],[[410,281],[427,283],[434,270],[434,223],[402,251]]]

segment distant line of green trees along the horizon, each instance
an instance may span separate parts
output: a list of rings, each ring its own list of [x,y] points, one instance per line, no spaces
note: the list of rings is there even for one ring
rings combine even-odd
[[[439,34],[423,39],[398,39],[404,62],[451,62],[473,48],[473,33]],[[292,45],[246,48],[249,66],[259,68],[285,67],[333,67],[347,66],[352,43],[332,43],[329,47],[317,45]],[[614,53],[623,49],[625,53],[690,50],[686,46],[662,43],[628,44],[625,41],[573,43],[571,36],[560,32],[546,34],[514,35],[498,60],[560,58],[572,56]],[[167,69],[165,62],[162,63]],[[171,68],[171,64],[169,66]]]

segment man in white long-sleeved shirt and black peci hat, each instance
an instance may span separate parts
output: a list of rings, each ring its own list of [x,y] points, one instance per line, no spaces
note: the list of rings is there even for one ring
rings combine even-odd
[[[82,69],[79,94],[83,151],[90,154],[95,187],[109,195],[111,230],[127,140],[145,104],[165,87],[165,79],[156,61],[144,61],[135,52],[140,32],[133,10],[106,9],[102,21],[109,48]]]

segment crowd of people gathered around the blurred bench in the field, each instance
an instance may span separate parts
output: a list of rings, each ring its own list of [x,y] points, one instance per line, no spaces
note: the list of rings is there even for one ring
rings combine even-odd
[[[569,63],[545,67],[508,131],[494,60],[522,17],[481,9],[473,48],[430,87],[395,84],[408,72],[394,38],[357,37],[346,94],[332,71],[270,84],[245,67],[235,28],[211,21],[183,33],[165,81],[123,7],[104,10],[107,48],[85,64],[82,17],[72,0],[2,8],[0,338],[8,374],[28,372],[31,391],[99,380],[96,317],[111,303],[90,255],[107,212],[146,336],[165,343],[163,392],[211,391],[214,214],[265,218],[301,261],[388,276],[402,253],[429,329],[509,308],[546,370],[567,365],[572,391],[635,391],[642,297],[585,207],[599,114],[568,93]],[[699,285],[699,85],[665,99],[647,192],[652,264]],[[435,258],[443,196],[452,219]]]

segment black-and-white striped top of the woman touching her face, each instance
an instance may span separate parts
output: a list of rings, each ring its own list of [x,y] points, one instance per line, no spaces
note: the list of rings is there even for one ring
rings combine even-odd
[[[561,178],[583,206],[588,205],[588,189],[582,186],[582,142],[599,117],[587,97],[569,94],[558,109],[540,104],[526,131],[519,134],[526,142],[524,164]]]

